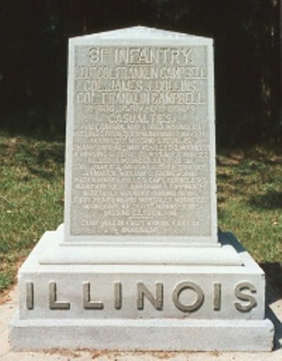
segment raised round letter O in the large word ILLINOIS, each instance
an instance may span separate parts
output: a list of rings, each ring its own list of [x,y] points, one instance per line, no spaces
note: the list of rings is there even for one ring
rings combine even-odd
[[[183,293],[183,290],[194,290],[197,294],[197,299],[195,302],[191,303],[190,305],[183,305],[183,303],[180,302],[179,297],[180,294]],[[176,285],[176,288],[174,288],[172,293],[172,300],[174,305],[178,308],[178,310],[183,312],[195,312],[197,311],[204,302],[204,293],[202,291],[202,288],[200,288],[196,283],[194,282],[180,282]]]

